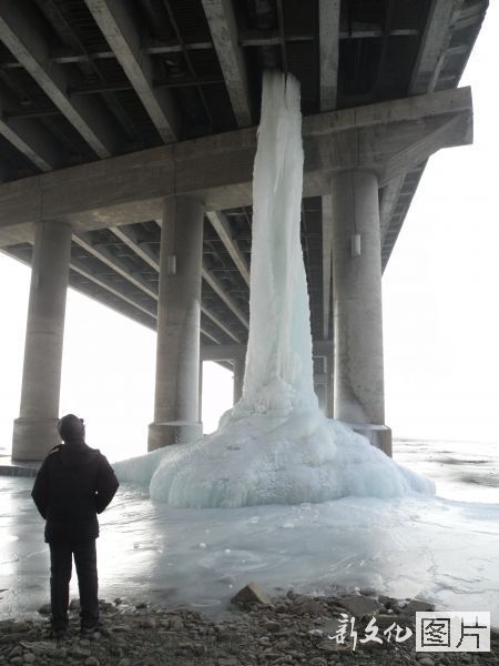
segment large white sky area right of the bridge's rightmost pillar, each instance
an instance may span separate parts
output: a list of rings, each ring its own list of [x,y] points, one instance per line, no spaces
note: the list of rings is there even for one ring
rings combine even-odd
[[[461,85],[475,142],[434,155],[384,276],[386,421],[396,435],[499,442],[499,3]]]

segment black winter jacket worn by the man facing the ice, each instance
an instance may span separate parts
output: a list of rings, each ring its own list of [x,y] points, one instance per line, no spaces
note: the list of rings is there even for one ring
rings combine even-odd
[[[31,493],[47,521],[45,542],[96,538],[96,514],[104,511],[119,485],[108,458],[83,440],[52,448]]]

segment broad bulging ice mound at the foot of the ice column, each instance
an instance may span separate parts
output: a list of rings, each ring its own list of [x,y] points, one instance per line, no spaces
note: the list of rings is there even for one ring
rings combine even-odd
[[[318,410],[230,415],[213,435],[116,463],[115,470],[121,480],[150,481],[153,500],[190,508],[435,493],[432,482]]]

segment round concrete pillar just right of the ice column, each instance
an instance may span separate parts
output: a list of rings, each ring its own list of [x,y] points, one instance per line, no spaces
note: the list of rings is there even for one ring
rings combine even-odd
[[[391,455],[385,426],[378,182],[368,171],[335,174],[333,306],[335,418]]]

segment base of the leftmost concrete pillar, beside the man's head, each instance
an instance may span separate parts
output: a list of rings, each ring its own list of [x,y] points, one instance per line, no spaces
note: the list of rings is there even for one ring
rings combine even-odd
[[[12,461],[40,462],[61,443],[58,418],[16,418],[12,436]]]

